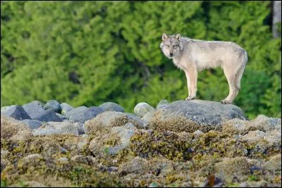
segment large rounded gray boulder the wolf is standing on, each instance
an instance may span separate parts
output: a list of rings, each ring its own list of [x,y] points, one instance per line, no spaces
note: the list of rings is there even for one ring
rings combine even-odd
[[[196,130],[208,132],[221,130],[222,124],[233,118],[247,119],[243,111],[233,104],[180,100],[157,108],[149,127],[153,130],[173,132],[195,132]]]

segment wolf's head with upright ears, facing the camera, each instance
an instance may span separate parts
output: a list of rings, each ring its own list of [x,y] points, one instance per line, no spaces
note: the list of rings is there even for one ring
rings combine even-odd
[[[180,43],[180,34],[168,36],[165,33],[161,37],[163,40],[161,42],[161,51],[168,58],[173,58],[173,56],[179,56],[180,51],[183,49],[182,44]]]

